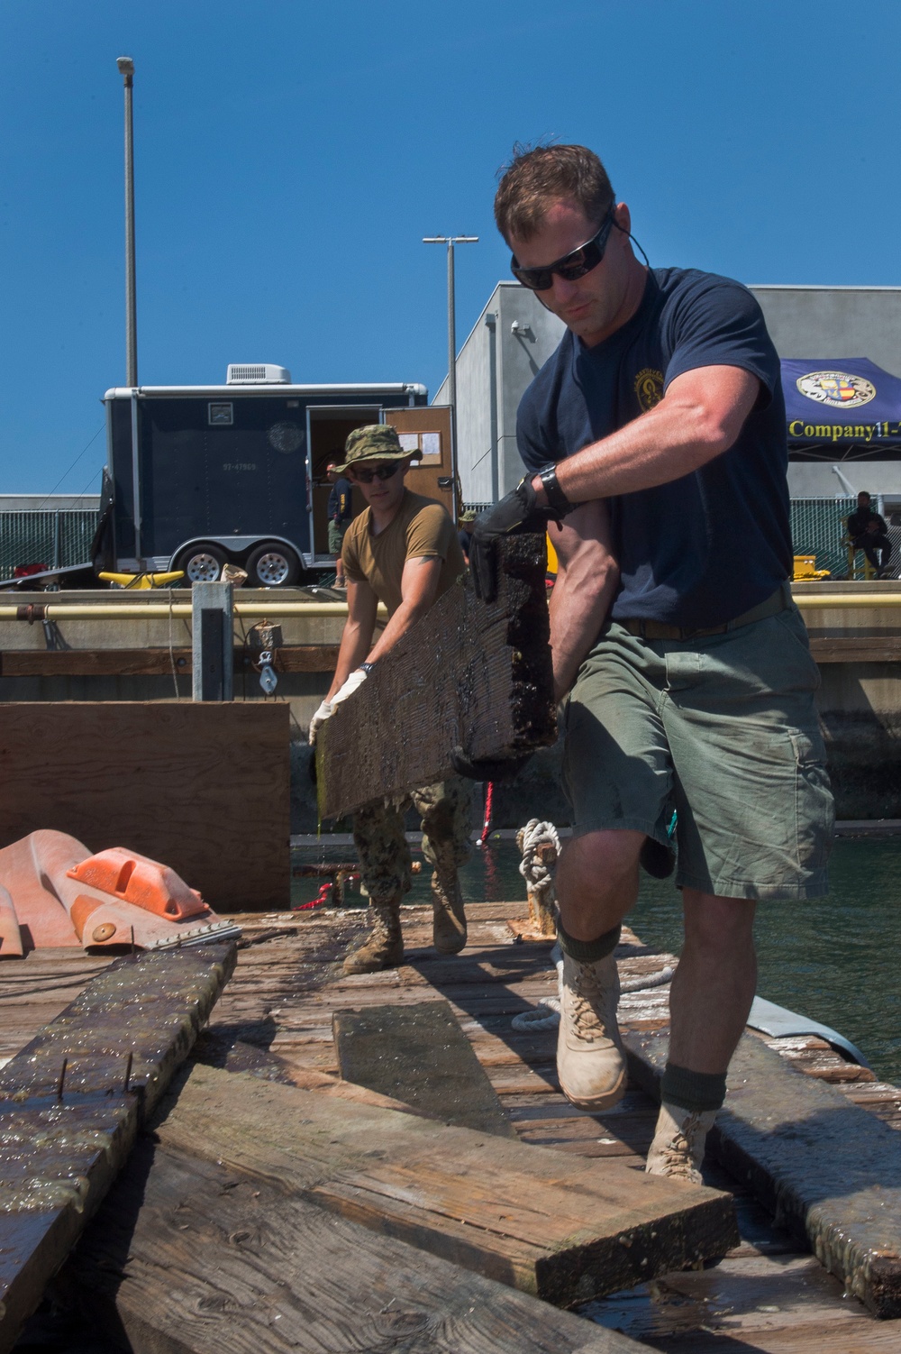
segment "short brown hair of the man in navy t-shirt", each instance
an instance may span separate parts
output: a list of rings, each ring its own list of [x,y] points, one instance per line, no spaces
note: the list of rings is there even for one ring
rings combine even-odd
[[[552,202],[575,202],[601,225],[613,206],[607,171],[587,146],[515,145],[494,199],[494,219],[505,240],[530,240]]]

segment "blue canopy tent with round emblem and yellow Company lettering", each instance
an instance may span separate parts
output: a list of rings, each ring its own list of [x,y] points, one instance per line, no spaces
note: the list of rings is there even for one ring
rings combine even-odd
[[[901,454],[901,379],[867,357],[782,360],[791,460]]]

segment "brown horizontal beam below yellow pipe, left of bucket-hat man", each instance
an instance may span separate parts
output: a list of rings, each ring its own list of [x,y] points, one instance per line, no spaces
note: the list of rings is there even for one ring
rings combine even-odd
[[[234,670],[244,672],[254,655],[234,650]],[[337,645],[283,645],[272,666],[277,673],[331,673]],[[193,670],[189,649],[7,649],[0,653],[0,677],[168,677]]]

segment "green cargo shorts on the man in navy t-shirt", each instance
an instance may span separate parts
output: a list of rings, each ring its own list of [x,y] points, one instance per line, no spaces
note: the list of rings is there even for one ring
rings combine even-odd
[[[724,898],[827,892],[833,806],[797,607],[687,640],[611,621],[564,704],[563,785],[576,837],[666,842],[676,884]]]

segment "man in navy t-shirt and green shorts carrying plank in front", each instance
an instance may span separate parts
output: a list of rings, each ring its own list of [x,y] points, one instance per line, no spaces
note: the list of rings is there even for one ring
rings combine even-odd
[[[574,821],[556,879],[560,1083],[595,1110],[625,1089],[613,952],[639,861],[667,861],[675,814],[685,948],[648,1170],[697,1181],[755,994],[755,906],[827,890],[832,798],[789,586],[779,362],[739,283],[636,259],[629,209],[584,146],[518,156],[495,218],[514,275],[567,326],[519,406],[526,477],[471,547],[488,600],[499,535],[551,521],[557,551]]]

